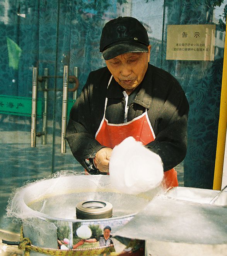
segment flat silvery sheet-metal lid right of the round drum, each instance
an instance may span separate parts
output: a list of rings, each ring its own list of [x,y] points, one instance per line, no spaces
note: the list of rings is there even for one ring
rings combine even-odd
[[[227,244],[227,208],[154,198],[116,237],[188,244]]]

